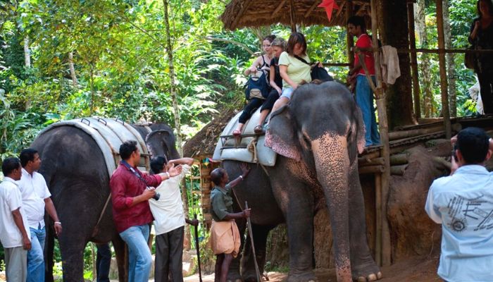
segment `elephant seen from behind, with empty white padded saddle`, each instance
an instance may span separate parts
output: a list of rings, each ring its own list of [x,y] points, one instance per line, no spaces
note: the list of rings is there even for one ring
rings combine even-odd
[[[165,124],[132,125],[146,141],[149,152],[168,159],[179,158],[173,130]],[[63,224],[58,235],[63,261],[63,281],[84,281],[84,249],[86,244],[113,242],[118,261],[120,281],[127,281],[124,270],[124,244],[113,223],[109,176],[101,149],[94,139],[79,128],[58,126],[41,134],[32,143],[42,159],[39,173],[44,176]],[[104,213],[103,213],[104,211]],[[101,217],[100,217],[101,216]],[[46,221],[46,281],[53,278],[53,222]],[[99,223],[98,223],[99,222]],[[95,228],[97,224],[97,228]]]

